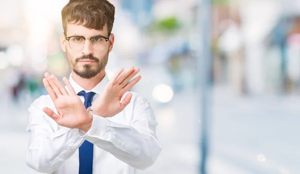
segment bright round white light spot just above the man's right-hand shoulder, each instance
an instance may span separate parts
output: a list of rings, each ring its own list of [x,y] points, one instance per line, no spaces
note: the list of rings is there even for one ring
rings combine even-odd
[[[173,90],[168,85],[160,84],[154,87],[152,96],[158,102],[167,103],[173,98]]]

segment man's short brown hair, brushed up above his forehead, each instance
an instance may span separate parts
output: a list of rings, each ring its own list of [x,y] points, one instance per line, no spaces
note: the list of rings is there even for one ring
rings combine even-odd
[[[103,29],[107,23],[108,36],[114,21],[114,6],[108,0],[70,0],[61,10],[63,33],[68,23],[90,29]]]

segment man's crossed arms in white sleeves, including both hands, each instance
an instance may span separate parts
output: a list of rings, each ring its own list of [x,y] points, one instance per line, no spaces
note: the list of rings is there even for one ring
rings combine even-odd
[[[124,74],[126,73],[124,73],[123,77],[120,78],[119,71],[116,76],[111,79],[110,84],[108,83],[108,86],[112,84],[113,87],[113,84],[122,82],[121,80],[126,79],[130,74],[132,76],[132,72],[134,72],[134,70],[131,70],[131,72],[127,71],[127,76],[125,76]],[[113,116],[113,114],[115,115],[115,113],[117,114],[118,111],[115,111],[115,108],[118,107],[114,107],[114,111],[103,112],[106,113],[106,117],[89,114],[80,99],[76,101],[77,99],[75,99],[75,97],[77,97],[77,95],[72,91],[73,89],[66,78],[64,78],[63,81],[70,91],[70,95],[67,95],[66,91],[61,90],[60,92],[63,95],[57,94],[55,91],[57,91],[57,88],[62,89],[60,88],[62,85],[57,84],[58,80],[56,81],[53,75],[51,76],[52,78],[50,77],[50,79],[53,79],[52,82],[48,81],[49,76],[47,76],[47,74],[45,77],[43,82],[47,91],[49,87],[53,90],[48,91],[48,93],[52,95],[50,95],[52,101],[54,99],[53,103],[57,114],[52,110],[50,111],[49,108],[41,108],[38,100],[33,102],[28,109],[30,122],[27,131],[30,131],[30,140],[26,154],[26,164],[29,167],[38,172],[51,173],[57,170],[66,159],[70,158],[84,140],[93,143],[95,146],[109,152],[119,160],[137,169],[145,169],[154,163],[161,148],[155,135],[157,123],[155,122],[149,103],[144,98],[140,96],[134,98],[133,105],[135,109],[133,110],[131,125],[122,125],[106,118]],[[45,80],[47,80],[48,84]],[[56,84],[57,88],[52,87],[53,84]],[[123,88],[116,89],[122,90]],[[114,92],[118,91],[116,89],[114,88]],[[105,93],[109,93],[109,91],[111,92],[112,90],[107,88],[104,90]],[[55,96],[53,97],[53,92],[56,98]],[[128,95],[129,97],[127,97]],[[117,101],[111,97],[114,96],[113,94],[102,94],[100,96],[102,97],[102,101],[105,100],[105,96],[109,96],[109,105],[112,105],[113,101],[116,101],[120,108],[123,107],[120,105],[120,98]],[[129,101],[125,100],[126,97]],[[125,103],[123,103],[125,106],[130,102],[131,97],[132,94],[130,93],[125,96]],[[118,99],[118,97],[116,98]],[[59,99],[63,99],[63,102],[57,102]],[[104,105],[103,103],[101,104]],[[71,105],[73,106],[71,107]],[[98,106],[100,106],[100,104]],[[94,110],[97,110],[97,107],[92,107]],[[123,109],[120,109],[120,111],[122,110]],[[63,128],[55,129],[53,128],[55,125],[63,126]]]

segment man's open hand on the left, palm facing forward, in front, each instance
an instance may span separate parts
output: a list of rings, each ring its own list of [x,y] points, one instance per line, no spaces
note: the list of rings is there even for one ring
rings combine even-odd
[[[44,76],[43,85],[49,93],[58,115],[47,107],[43,108],[43,112],[60,126],[71,129],[78,128],[87,132],[91,127],[92,115],[86,111],[70,82],[65,77],[62,78],[69,94],[54,75],[50,76],[45,73]]]

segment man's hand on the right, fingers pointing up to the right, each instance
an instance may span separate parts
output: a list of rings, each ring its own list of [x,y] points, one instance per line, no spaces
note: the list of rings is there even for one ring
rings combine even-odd
[[[109,80],[103,92],[89,107],[92,110],[90,113],[101,117],[112,117],[120,113],[129,104],[132,97],[131,93],[128,93],[122,102],[120,100],[124,93],[141,79],[141,76],[139,75],[127,83],[139,72],[139,68],[130,67],[126,72],[122,72],[123,68]]]

